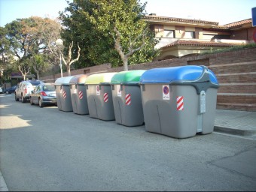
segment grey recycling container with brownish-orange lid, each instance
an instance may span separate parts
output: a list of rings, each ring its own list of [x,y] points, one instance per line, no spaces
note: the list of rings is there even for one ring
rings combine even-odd
[[[84,85],[87,77],[89,77],[88,74],[76,75],[69,81],[72,108],[75,114],[89,114],[87,92]]]

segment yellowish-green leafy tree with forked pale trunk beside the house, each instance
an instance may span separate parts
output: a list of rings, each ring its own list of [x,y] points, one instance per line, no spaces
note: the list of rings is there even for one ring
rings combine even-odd
[[[138,55],[147,55],[151,52],[148,54],[150,56],[141,62],[153,59],[151,56],[156,53],[154,45],[157,42],[150,34],[148,24],[142,20],[146,4],[141,5],[137,0],[90,1],[97,6],[93,10],[93,17],[90,17],[91,21],[97,28],[113,37],[114,48],[120,55],[124,71],[128,70],[129,58],[131,58],[130,63],[133,63],[132,55],[138,58]]]

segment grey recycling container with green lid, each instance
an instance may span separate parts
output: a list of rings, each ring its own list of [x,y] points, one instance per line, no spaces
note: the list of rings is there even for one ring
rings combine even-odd
[[[139,126],[144,123],[139,80],[145,70],[122,71],[111,79],[114,117],[117,124]]]

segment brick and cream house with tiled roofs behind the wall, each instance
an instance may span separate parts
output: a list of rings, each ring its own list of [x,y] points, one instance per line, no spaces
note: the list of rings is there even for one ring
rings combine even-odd
[[[211,49],[221,49],[253,43],[251,19],[219,26],[216,22],[160,17],[154,13],[144,17],[159,43],[160,55],[155,60],[197,55]]]

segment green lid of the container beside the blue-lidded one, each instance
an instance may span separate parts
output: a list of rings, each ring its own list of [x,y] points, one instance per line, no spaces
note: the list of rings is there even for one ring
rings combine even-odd
[[[121,71],[111,79],[111,84],[139,83],[145,70]]]

